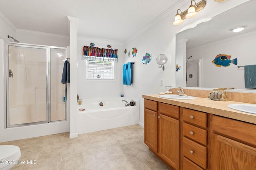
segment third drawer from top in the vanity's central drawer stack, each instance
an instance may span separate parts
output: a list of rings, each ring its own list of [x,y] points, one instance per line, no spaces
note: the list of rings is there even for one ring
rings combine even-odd
[[[183,137],[183,155],[192,162],[206,169],[207,166],[207,148]]]

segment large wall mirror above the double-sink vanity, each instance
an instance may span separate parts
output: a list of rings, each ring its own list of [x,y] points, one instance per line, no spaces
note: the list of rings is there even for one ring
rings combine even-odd
[[[256,64],[255,8],[256,0],[250,0],[178,33],[176,86],[247,89],[243,66]],[[241,25],[246,26],[243,31],[231,31]],[[216,66],[212,61],[219,54],[231,55],[237,65]]]

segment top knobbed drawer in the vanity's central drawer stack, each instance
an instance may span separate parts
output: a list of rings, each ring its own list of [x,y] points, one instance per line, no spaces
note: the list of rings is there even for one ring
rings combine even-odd
[[[183,120],[200,127],[207,127],[207,113],[183,108]]]

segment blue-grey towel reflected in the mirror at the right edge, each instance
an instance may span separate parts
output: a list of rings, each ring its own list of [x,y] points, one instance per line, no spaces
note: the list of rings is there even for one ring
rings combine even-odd
[[[245,88],[256,88],[256,65],[244,66]]]

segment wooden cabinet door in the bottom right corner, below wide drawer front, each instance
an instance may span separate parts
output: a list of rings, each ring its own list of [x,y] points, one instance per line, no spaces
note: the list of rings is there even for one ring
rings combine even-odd
[[[256,170],[256,148],[212,135],[212,170]]]

